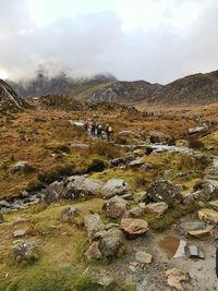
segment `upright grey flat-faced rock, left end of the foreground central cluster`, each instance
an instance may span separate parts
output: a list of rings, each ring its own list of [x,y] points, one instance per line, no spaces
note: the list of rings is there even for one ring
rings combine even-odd
[[[87,231],[88,241],[92,241],[94,235],[105,229],[105,225],[102,223],[99,215],[88,215],[84,217],[84,223]]]

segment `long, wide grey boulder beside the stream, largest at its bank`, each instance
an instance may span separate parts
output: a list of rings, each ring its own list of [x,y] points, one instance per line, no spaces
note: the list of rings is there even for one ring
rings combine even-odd
[[[61,193],[61,198],[74,199],[89,195],[97,195],[104,187],[104,183],[81,175],[70,177],[65,181],[65,184],[66,185]]]

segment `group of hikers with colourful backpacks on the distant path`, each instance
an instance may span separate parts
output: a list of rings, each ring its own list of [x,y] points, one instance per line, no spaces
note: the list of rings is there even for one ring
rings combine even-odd
[[[96,123],[95,121],[86,121],[84,123],[84,128],[89,134],[95,135],[98,138],[102,138],[102,133],[106,134],[108,142],[113,137],[113,129],[110,124],[106,124],[104,126],[102,124]]]

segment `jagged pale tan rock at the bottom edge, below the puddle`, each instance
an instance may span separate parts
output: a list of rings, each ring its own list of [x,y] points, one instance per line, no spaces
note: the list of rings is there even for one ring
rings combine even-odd
[[[168,277],[168,284],[174,287],[177,290],[182,291],[183,287],[181,282],[190,280],[190,275],[181,269],[172,268],[166,271]]]

